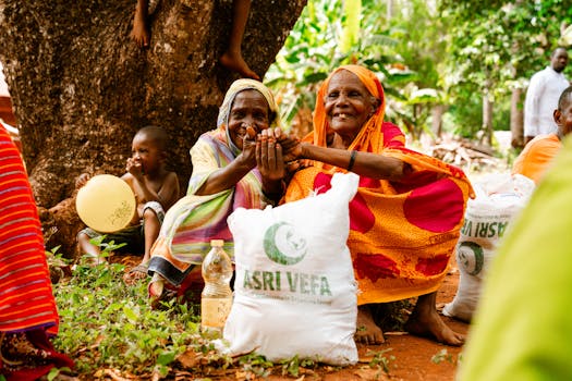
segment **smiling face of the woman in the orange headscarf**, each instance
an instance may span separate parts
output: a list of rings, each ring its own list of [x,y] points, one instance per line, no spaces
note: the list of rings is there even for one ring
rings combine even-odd
[[[324,99],[330,130],[349,146],[375,113],[379,100],[373,97],[357,75],[346,70],[333,74]]]

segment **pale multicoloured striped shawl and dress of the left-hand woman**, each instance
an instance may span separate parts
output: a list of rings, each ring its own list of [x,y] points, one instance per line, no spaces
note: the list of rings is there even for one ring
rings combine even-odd
[[[224,249],[230,256],[233,255],[227,218],[236,208],[263,209],[270,204],[263,195],[257,169],[246,174],[233,188],[214,195],[195,195],[212,172],[227,167],[240,153],[230,139],[227,125],[234,98],[246,89],[255,89],[266,98],[273,113],[270,127],[280,126],[278,107],[271,93],[260,82],[239,79],[232,84],[220,107],[218,128],[203,134],[191,149],[193,174],[187,196],[169,209],[151,248],[149,273],[158,273],[174,285],[184,281],[193,265],[203,262],[210,249],[210,239],[224,239]]]

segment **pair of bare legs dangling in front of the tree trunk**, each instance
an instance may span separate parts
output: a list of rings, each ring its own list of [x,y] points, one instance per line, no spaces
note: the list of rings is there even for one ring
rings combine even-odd
[[[239,73],[243,77],[260,79],[258,74],[248,67],[248,64],[242,57],[242,38],[246,22],[248,21],[248,13],[251,11],[251,0],[233,0],[232,1],[232,27],[229,39],[229,46],[224,53],[220,57],[220,63],[233,72]],[[137,0],[135,8],[135,16],[133,19],[133,29],[131,38],[141,48],[147,48],[150,42],[151,34],[149,27],[149,1]]]

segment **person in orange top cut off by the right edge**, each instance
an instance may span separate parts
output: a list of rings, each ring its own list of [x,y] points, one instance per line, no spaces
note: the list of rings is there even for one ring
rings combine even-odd
[[[512,173],[532,179],[536,185],[543,179],[555,156],[560,151],[562,137],[572,131],[572,86],[562,91],[553,112],[558,125],[556,134],[538,135],[532,139],[514,161]]]

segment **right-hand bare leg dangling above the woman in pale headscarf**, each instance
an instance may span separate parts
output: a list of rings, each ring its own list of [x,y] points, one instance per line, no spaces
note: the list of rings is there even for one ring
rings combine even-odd
[[[251,0],[234,0],[232,2],[232,28],[227,51],[221,56],[220,63],[244,77],[260,79],[258,74],[248,67],[248,64],[242,57],[242,38],[248,13],[251,12]]]

